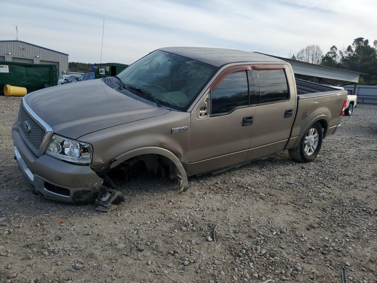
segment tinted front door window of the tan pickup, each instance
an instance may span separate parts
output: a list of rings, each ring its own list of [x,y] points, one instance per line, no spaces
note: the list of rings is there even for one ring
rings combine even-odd
[[[211,113],[220,114],[249,104],[246,71],[229,74],[211,93]]]

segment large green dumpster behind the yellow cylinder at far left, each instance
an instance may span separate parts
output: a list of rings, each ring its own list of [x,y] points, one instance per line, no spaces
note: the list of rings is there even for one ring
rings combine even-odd
[[[58,71],[54,64],[32,64],[0,61],[0,94],[4,86],[20,86],[29,92],[58,85]]]

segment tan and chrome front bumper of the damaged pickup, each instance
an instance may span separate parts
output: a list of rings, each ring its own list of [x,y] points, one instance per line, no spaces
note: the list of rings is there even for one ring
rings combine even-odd
[[[67,163],[47,154],[38,157],[21,137],[17,123],[12,137],[18,166],[39,194],[64,203],[87,203],[97,198],[103,179],[88,165]]]

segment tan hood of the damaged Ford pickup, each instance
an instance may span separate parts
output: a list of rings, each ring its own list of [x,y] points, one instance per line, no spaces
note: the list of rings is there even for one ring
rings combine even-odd
[[[41,89],[24,99],[56,134],[75,139],[90,132],[169,112],[121,94],[101,79]]]

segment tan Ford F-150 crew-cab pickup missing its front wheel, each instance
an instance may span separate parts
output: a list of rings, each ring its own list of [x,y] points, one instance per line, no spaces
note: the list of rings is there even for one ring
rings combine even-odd
[[[15,158],[35,194],[102,201],[141,166],[178,178],[221,172],[288,149],[313,161],[340,127],[347,92],[296,80],[289,63],[218,48],[161,48],[115,77],[22,99]]]

